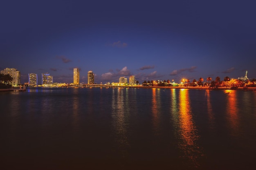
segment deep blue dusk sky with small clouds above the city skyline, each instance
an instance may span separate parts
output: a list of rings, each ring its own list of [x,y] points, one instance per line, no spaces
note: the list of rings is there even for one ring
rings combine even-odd
[[[0,4],[0,69],[54,82],[256,78],[254,1],[27,1]]]

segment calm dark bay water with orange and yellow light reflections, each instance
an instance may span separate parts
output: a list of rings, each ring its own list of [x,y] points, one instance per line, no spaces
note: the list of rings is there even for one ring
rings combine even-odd
[[[249,169],[256,158],[255,91],[28,88],[0,93],[0,108],[4,169]]]

